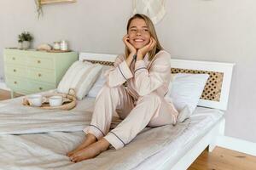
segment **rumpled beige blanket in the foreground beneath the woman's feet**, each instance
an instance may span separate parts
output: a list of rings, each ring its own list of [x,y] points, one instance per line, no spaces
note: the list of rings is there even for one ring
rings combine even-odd
[[[66,156],[84,133],[0,135],[0,169],[131,169],[162,150],[181,133],[170,126],[148,129],[121,150],[113,148],[94,159],[73,163]]]

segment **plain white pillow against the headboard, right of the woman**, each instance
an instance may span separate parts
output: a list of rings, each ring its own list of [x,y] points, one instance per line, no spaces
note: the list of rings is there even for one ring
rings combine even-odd
[[[208,74],[177,73],[171,82],[170,97],[178,112],[188,107],[192,114],[205,88]],[[170,86],[169,86],[170,88]]]

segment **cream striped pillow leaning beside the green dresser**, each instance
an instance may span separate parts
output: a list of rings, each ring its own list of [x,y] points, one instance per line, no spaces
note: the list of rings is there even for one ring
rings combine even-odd
[[[99,77],[101,70],[102,65],[94,65],[87,61],[76,61],[69,67],[64,77],[62,77],[57,91],[67,94],[68,90],[73,88],[77,99],[83,99],[88,94],[96,78]]]

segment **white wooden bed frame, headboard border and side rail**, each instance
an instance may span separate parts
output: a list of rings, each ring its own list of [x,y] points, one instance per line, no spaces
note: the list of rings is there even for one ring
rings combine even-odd
[[[117,57],[117,54],[93,54],[93,53],[80,53],[79,59],[91,59],[91,60],[104,60],[113,62]],[[200,70],[200,71],[217,71],[223,72],[223,83],[221,88],[221,95],[219,101],[211,101],[206,99],[200,99],[198,105],[219,109],[222,111],[227,110],[228,99],[230,94],[230,83],[232,77],[232,71],[235,64],[233,63],[220,63],[210,61],[197,61],[186,59],[171,59],[173,68]],[[208,146],[208,151],[212,152],[217,145],[218,138],[224,135],[225,120],[224,118],[219,121],[214,127],[209,130],[197,143],[191,146],[190,150],[183,155],[183,157],[177,161],[173,166],[171,161],[167,160],[165,164],[159,169],[161,170],[185,170],[187,169],[195,159],[200,156],[201,152]]]

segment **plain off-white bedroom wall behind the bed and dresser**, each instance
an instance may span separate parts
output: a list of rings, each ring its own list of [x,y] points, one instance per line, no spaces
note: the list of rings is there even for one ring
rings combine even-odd
[[[0,75],[3,48],[15,47],[23,30],[32,32],[35,46],[67,39],[74,50],[122,53],[131,2],[78,0],[47,5],[38,20],[34,1],[0,1]],[[166,11],[156,29],[173,58],[236,63],[225,133],[256,142],[255,0],[169,0]]]

